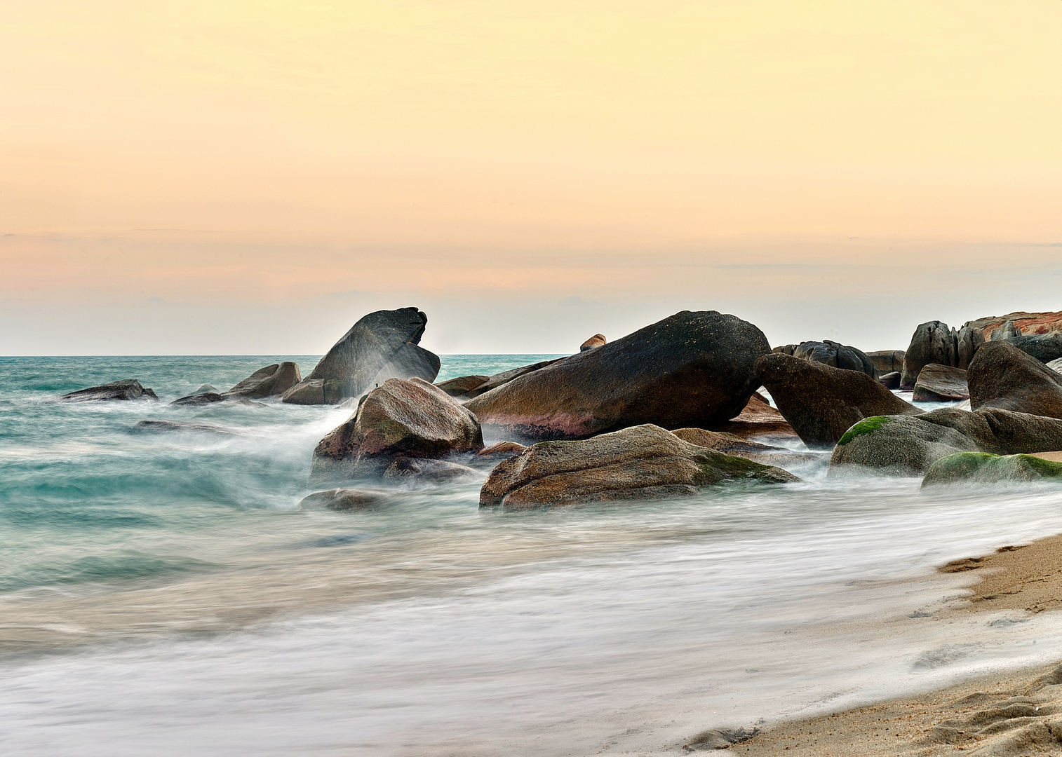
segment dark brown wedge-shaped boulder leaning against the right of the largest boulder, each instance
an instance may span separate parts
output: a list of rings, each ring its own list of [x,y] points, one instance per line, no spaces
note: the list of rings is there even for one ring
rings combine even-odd
[[[867,374],[788,355],[760,358],[756,375],[808,447],[832,447],[866,417],[922,412]]]

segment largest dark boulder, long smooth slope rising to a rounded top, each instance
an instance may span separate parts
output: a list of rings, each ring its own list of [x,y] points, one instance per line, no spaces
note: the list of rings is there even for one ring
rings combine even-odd
[[[741,412],[770,352],[752,324],[682,311],[615,342],[563,358],[468,400],[502,437],[585,438],[655,424],[712,428]]]

